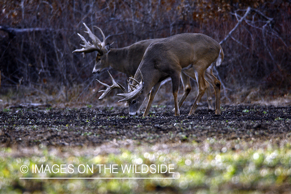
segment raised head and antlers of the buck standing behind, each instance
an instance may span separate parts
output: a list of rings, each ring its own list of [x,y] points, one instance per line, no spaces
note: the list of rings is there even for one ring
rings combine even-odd
[[[86,53],[98,51],[97,56],[96,56],[95,66],[93,69],[93,73],[94,74],[99,73],[101,69],[109,66],[107,64],[107,55],[110,51],[111,46],[109,43],[107,43],[107,44],[105,43],[106,38],[105,38],[104,33],[102,32],[102,30],[100,28],[98,28],[97,26],[93,26],[93,27],[100,30],[100,32],[102,34],[102,38],[103,38],[102,42],[100,41],[99,38],[97,38],[97,36],[95,36],[92,33],[92,31],[88,28],[88,26],[85,23],[83,23],[83,24],[87,30],[85,32],[88,33],[89,37],[92,40],[92,43],[89,41],[87,42],[86,39],[78,33],[80,38],[83,40],[84,45],[81,45],[83,47],[82,49],[76,49],[73,51],[73,53],[79,52],[79,53],[83,53],[83,56],[85,56]]]

